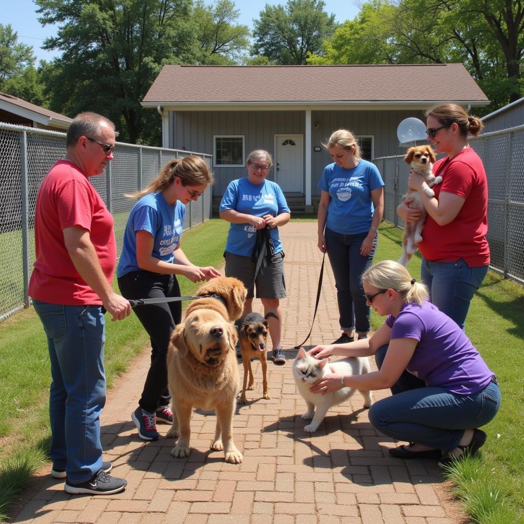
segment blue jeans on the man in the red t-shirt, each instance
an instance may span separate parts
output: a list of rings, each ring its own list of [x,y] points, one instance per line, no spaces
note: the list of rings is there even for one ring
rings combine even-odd
[[[51,360],[51,459],[73,483],[102,467],[100,413],[105,404],[105,322],[100,305],[33,300]]]

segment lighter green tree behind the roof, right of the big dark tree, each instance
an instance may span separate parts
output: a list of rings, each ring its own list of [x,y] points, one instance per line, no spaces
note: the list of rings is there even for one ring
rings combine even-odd
[[[193,17],[198,30],[201,57],[204,64],[234,64],[242,60],[249,48],[249,28],[237,25],[240,11],[231,0],[218,0],[206,6],[199,0]]]

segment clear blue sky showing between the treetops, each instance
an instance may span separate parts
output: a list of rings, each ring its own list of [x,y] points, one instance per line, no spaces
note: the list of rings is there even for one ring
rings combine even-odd
[[[0,0],[0,3],[2,4],[0,23],[4,25],[10,24],[18,33],[20,42],[33,46],[38,60],[51,60],[58,56],[57,52],[40,49],[43,40],[54,35],[56,27],[42,27],[40,25],[37,20],[36,5],[32,0],[17,0],[15,2],[12,0]],[[206,1],[206,3],[210,4],[212,2]],[[266,4],[277,5],[286,3],[287,0],[261,0],[261,2],[236,0],[236,6],[241,12],[239,23],[252,28],[253,18],[258,18],[260,10],[264,9]],[[330,14],[333,13],[337,22],[354,18],[358,13],[358,7],[356,7],[354,0],[324,0],[324,3],[326,5],[325,10]]]

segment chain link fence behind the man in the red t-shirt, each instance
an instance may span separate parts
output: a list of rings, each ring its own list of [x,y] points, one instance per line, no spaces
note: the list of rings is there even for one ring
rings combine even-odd
[[[174,158],[198,155],[211,169],[211,155],[116,143],[105,173],[90,178],[113,214],[118,253],[133,193],[155,179]],[[35,205],[40,182],[54,162],[65,156],[65,133],[0,123],[0,322],[29,305],[27,287],[35,262]],[[186,206],[184,230],[211,217],[212,188]]]

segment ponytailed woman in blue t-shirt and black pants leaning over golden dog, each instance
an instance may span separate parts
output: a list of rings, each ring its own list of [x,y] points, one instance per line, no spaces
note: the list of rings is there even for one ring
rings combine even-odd
[[[128,300],[180,297],[176,275],[192,282],[220,276],[213,267],[192,264],[180,248],[185,204],[198,200],[213,177],[196,156],[169,161],[142,191],[129,213],[122,254],[116,268],[118,287]],[[182,318],[181,302],[161,302],[135,308],[151,339],[151,366],[138,407],[131,418],[142,440],[157,440],[156,422],[172,422],[167,388],[167,350],[174,326]]]

